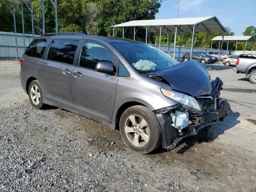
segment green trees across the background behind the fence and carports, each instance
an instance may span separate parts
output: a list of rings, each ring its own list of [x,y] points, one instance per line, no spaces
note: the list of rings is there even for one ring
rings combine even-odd
[[[42,4],[42,0],[38,0]],[[34,9],[34,28],[36,34],[42,34],[42,10],[37,1],[32,3]],[[58,0],[58,28],[60,32],[85,32],[92,35],[112,35],[110,26],[127,22],[131,20],[154,19],[162,0]],[[48,1],[44,1],[45,26],[46,32],[55,31],[55,10],[54,6]],[[16,10],[17,32],[22,32],[21,15]],[[31,33],[31,16],[29,10],[24,5],[25,32]],[[136,28],[137,29],[137,28]],[[0,30],[14,31],[13,16],[6,5],[0,1]],[[230,28],[226,28],[225,35],[234,35]],[[243,32],[244,35],[252,35],[256,39],[256,28],[248,26]],[[215,36],[221,36],[222,33],[210,33],[208,48],[211,45],[211,39]],[[114,36],[122,37],[122,28],[115,28]],[[124,37],[133,39],[134,28],[127,28]],[[140,28],[136,33],[136,40],[145,42],[145,30]],[[150,36],[151,44],[159,44],[159,34],[154,33]],[[182,33],[177,35],[176,45],[191,46],[192,34]],[[173,45],[174,33],[163,33],[161,36],[161,45]],[[207,46],[207,34],[199,32],[195,34],[194,46]],[[212,48],[218,48],[219,42],[213,41]],[[244,42],[238,42],[237,50],[244,50]],[[256,44],[247,43],[246,50],[256,50]],[[224,42],[223,49],[227,47]],[[229,49],[236,48],[235,42],[229,43]]]

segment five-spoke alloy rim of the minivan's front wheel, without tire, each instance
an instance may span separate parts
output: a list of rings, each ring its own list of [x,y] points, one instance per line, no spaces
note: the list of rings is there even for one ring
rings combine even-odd
[[[141,116],[136,114],[128,116],[124,131],[129,142],[136,147],[145,146],[149,141],[148,123]]]

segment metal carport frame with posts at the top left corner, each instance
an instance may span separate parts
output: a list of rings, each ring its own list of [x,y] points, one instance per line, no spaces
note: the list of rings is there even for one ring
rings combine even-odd
[[[8,10],[12,13],[13,15],[13,20],[14,20],[14,33],[15,33],[15,41],[16,41],[16,57],[17,57],[17,61],[18,61],[18,45],[17,45],[17,32],[16,32],[16,17],[15,17],[15,8],[18,9],[18,11],[20,12],[21,16],[22,16],[22,33],[23,33],[23,42],[24,42],[24,51],[26,49],[25,47],[25,28],[24,28],[24,14],[23,14],[23,5],[25,4],[28,7],[28,10],[31,13],[31,21],[32,21],[32,35],[34,37],[34,16],[33,16],[33,7],[32,7],[32,2],[34,0],[2,0],[4,2],[4,4],[7,6]],[[57,18],[57,0],[50,0],[52,2],[52,5],[55,8],[55,28],[56,28],[56,32],[58,32],[58,18]],[[42,26],[42,31],[43,33],[45,33],[45,20],[44,20],[44,0],[42,0],[42,4],[40,4],[38,2],[38,0],[36,0],[36,2],[38,3],[38,5],[40,6],[40,9],[42,10],[42,22],[43,22],[43,26]],[[30,6],[29,6],[30,3]],[[12,7],[9,5],[11,4]],[[21,10],[20,10],[20,6],[21,6]]]

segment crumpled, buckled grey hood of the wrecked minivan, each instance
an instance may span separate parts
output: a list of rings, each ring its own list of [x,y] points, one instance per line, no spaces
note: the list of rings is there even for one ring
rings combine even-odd
[[[184,92],[193,97],[210,95],[212,91],[210,74],[196,60],[180,62],[167,70],[151,72],[150,74],[164,78],[173,90]]]

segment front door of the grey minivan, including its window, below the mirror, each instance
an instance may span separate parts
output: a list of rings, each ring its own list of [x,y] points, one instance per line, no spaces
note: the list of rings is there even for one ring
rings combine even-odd
[[[72,72],[72,98],[78,112],[110,123],[118,76],[97,72],[99,61],[114,64],[114,54],[99,42],[84,41],[78,66]]]

